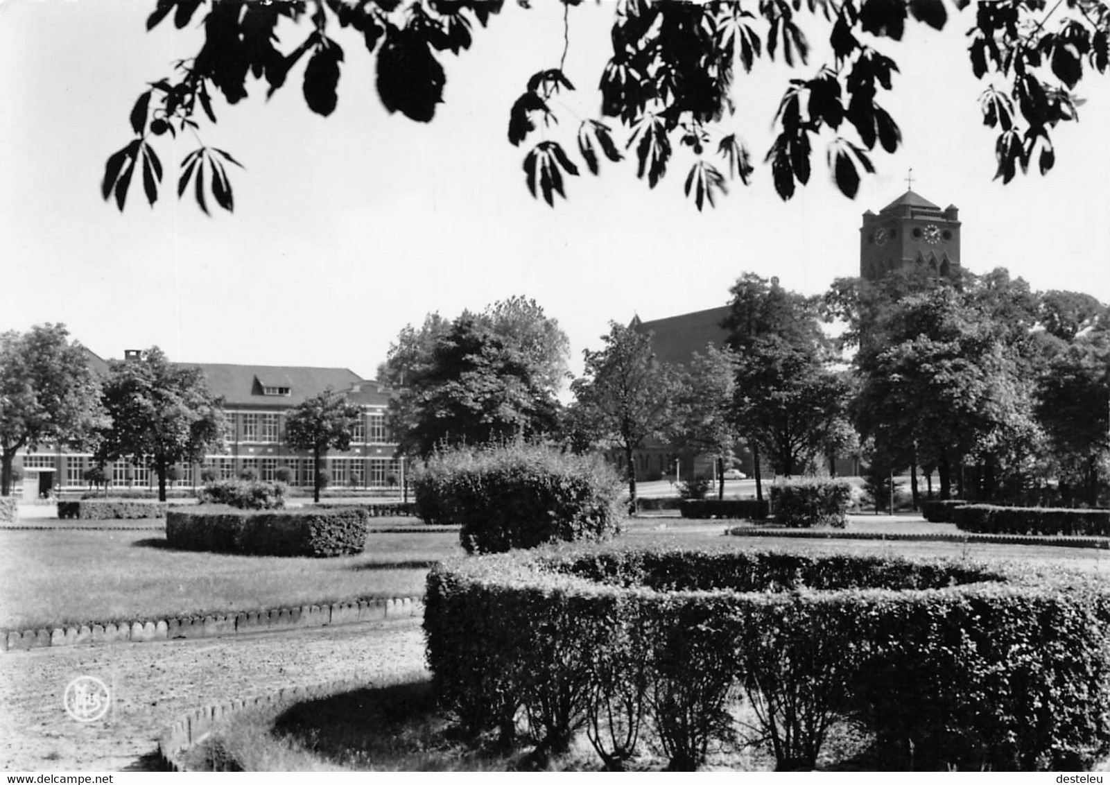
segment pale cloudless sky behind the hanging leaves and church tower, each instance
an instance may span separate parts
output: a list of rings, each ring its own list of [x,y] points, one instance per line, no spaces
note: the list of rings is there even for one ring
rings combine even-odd
[[[1056,168],[1003,185],[992,179],[995,134],[978,110],[986,83],[968,66],[965,12],[941,32],[911,26],[902,42],[876,44],[900,67],[879,100],[904,147],[876,152],[878,171],[855,200],[819,152],[810,184],[785,203],[757,165],[753,185],[736,183],[698,213],[682,190],[689,163],[676,157],[654,190],[630,161],[603,161],[599,178],[583,168],[551,209],[528,194],[525,150],[506,139],[528,76],[563,50],[558,3],[532,6],[509,0],[470,51],[444,58],[445,102],[430,124],[382,108],[373,62],[349,30],[334,33],[346,58],[330,118],[304,105],[303,61],[269,101],[262,82],[234,107],[218,99],[219,122],[201,135],[245,171],[231,172],[234,213],[208,217],[172,188],[189,140],[159,149],[170,184],[153,209],[138,183],[122,214],[99,190],[104,160],[131,139],[135,98],[195,52],[200,16],[148,33],[153,0],[0,0],[0,331],[62,322],[103,358],[158,345],[185,362],[373,378],[404,325],[523,294],[558,320],[577,373],[610,320],[723,305],[745,272],[806,294],[858,274],[860,215],[905,192],[910,168],[916,192],[960,209],[966,269],[1001,265],[1033,289],[1110,302],[1107,77],[1084,72],[1080,122],[1054,131]],[[573,139],[574,118],[596,117],[613,9],[572,10],[566,73],[578,90],[555,133]],[[287,51],[306,33],[279,34]],[[796,73],[768,61],[737,73],[727,123],[756,162],[786,80],[824,62],[816,30],[810,38],[814,57]]]

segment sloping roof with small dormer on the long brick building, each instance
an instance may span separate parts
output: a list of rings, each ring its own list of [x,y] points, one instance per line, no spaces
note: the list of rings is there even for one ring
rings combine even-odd
[[[225,406],[295,406],[331,388],[336,392],[355,384],[367,384],[345,368],[305,368],[301,365],[236,365],[230,363],[180,363],[203,371],[209,388],[223,397]],[[289,388],[289,395],[264,395],[263,386]],[[376,390],[376,386],[374,388]]]

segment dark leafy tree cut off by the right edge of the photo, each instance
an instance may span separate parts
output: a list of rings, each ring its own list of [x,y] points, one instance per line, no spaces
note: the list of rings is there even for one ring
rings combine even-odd
[[[1110,333],[1079,338],[1049,363],[1037,416],[1060,463],[1081,479],[1083,501],[1096,505],[1100,461],[1110,455]]]

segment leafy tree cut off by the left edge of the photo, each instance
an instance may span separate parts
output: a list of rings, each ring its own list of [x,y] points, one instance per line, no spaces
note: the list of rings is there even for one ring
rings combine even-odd
[[[104,424],[100,382],[63,324],[0,334],[0,495],[11,493],[17,452],[43,442],[87,446]]]

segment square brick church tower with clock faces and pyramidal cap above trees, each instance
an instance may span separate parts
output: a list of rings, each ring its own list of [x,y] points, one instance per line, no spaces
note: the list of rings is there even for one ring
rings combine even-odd
[[[859,276],[875,281],[895,270],[924,269],[956,280],[960,275],[959,210],[941,210],[906,191],[876,215],[864,213],[859,230]]]

